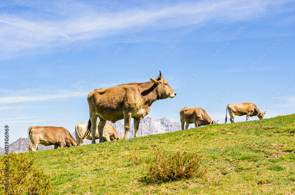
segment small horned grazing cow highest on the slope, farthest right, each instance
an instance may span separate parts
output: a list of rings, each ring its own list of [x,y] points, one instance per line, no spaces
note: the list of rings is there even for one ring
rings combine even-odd
[[[263,115],[265,112],[260,112],[259,109],[253,103],[240,103],[240,104],[229,104],[226,107],[226,116],[225,116],[225,123],[227,122],[227,109],[228,113],[230,114],[230,122],[235,123],[235,115],[246,116],[246,121],[248,121],[249,116],[258,116],[261,120],[263,119]]]

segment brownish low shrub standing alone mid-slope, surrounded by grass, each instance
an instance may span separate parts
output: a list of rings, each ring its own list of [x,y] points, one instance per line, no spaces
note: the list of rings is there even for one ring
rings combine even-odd
[[[177,151],[176,153],[163,153],[158,150],[147,162],[146,176],[140,179],[145,183],[162,183],[177,181],[191,177],[200,177],[206,173],[201,170],[202,160],[197,153]]]

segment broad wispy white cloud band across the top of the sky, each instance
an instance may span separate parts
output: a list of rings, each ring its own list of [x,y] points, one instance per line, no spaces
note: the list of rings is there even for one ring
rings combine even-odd
[[[161,31],[193,25],[190,28],[192,30],[209,22],[229,24],[237,21],[257,21],[263,19],[269,13],[271,13],[271,16],[282,14],[283,9],[280,9],[280,7],[290,1],[272,2],[265,11],[261,12],[259,5],[263,4],[262,0],[223,0],[204,19],[200,20],[199,16],[202,16],[203,12],[208,9],[207,6],[216,2],[171,3],[164,9],[160,4],[150,3],[147,7],[142,8],[130,6],[125,11],[114,8],[107,16],[102,17],[101,12],[103,12],[104,7],[101,7],[101,5],[82,4],[72,1],[67,6],[64,6],[60,1],[58,3],[55,1],[49,7],[46,7],[24,1],[22,6],[38,7],[40,12],[43,13],[43,17],[38,16],[37,20],[34,14],[27,14],[28,16],[24,14],[1,15],[0,42],[2,47],[0,56],[2,59],[14,57],[17,54],[16,48],[29,40],[30,36],[34,38],[26,44],[19,54],[32,55],[32,52],[24,51],[35,48],[42,49],[38,49],[34,54],[55,52],[54,48],[67,46],[81,32],[87,34],[85,40],[88,41],[122,35],[140,27],[141,22],[146,22],[151,31]],[[123,2],[120,3],[124,4]],[[61,13],[59,14],[57,10],[61,11]],[[47,12],[64,17],[47,15]],[[48,21],[46,26],[43,24],[44,21]],[[42,29],[36,31],[36,28],[39,27]]]

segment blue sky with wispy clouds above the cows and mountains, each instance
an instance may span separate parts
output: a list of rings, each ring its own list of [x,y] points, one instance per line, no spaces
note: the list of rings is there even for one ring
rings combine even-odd
[[[179,122],[183,107],[200,107],[224,123],[227,104],[243,102],[265,118],[295,113],[294,9],[289,0],[1,1],[2,129],[10,143],[30,126],[73,132],[89,120],[90,91],[159,70],[177,95],[154,102],[152,118]]]

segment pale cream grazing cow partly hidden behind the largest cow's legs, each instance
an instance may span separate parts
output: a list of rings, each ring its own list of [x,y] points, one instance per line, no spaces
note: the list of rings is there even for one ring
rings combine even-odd
[[[99,138],[98,129],[97,129],[98,125],[99,125],[99,122],[96,123],[95,139]],[[83,145],[86,140],[86,136],[84,137],[81,136],[81,135],[85,135],[86,129],[87,129],[87,123],[77,124],[75,128],[76,141],[80,142],[81,145]],[[115,128],[109,123],[106,123],[106,125],[104,126],[104,132],[102,134],[102,138],[106,142],[123,139],[121,136],[118,135]],[[87,139],[92,140],[92,135],[91,134],[88,135]]]

